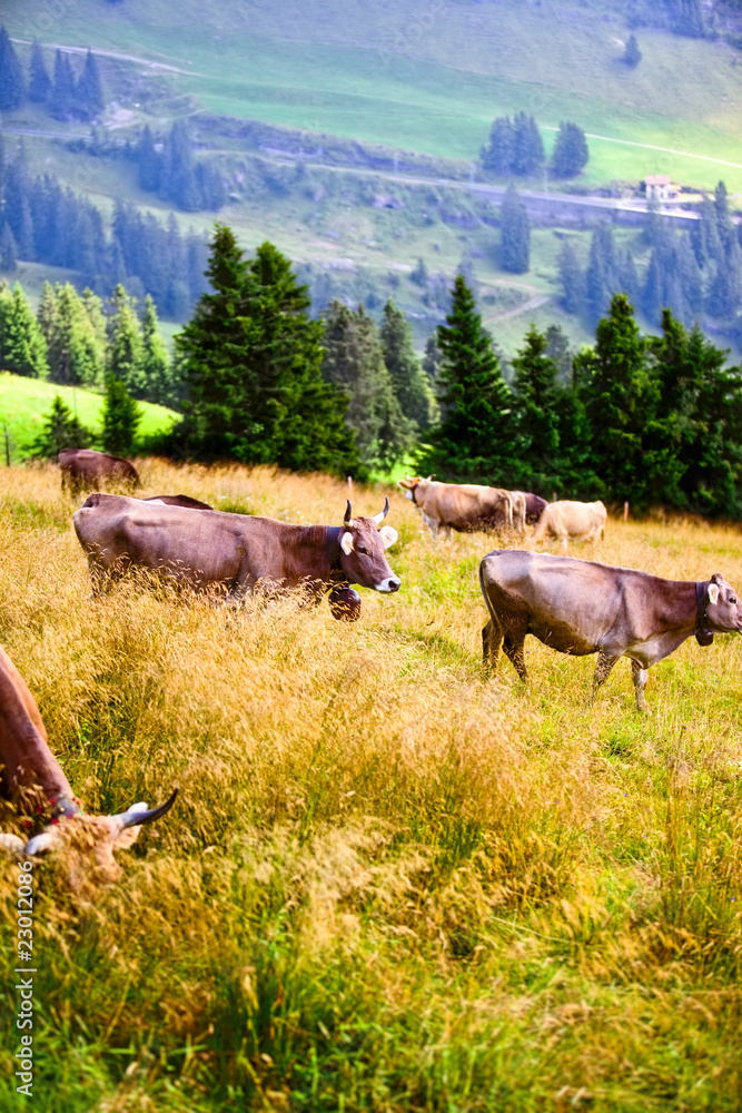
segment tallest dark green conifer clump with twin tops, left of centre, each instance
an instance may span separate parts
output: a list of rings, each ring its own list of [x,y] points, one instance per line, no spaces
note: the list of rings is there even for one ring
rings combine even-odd
[[[207,274],[211,290],[176,337],[189,451],[357,474],[347,397],[323,381],[321,325],[288,260],[271,244],[244,259],[217,224]]]

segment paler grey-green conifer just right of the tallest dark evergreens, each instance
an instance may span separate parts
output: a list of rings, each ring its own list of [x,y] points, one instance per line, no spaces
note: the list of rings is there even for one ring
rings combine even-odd
[[[395,394],[376,323],[363,306],[330,302],[323,325],[323,375],[348,397],[346,421],[364,465],[387,471],[412,449],[415,429]]]

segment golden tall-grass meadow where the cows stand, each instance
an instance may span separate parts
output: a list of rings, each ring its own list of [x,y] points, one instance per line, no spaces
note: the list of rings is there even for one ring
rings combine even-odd
[[[327,477],[140,463],[144,494],[345,506]],[[0,641],[76,791],[120,811],[181,787],[91,903],[34,869],[34,1107],[740,1109],[742,643],[654,668],[651,717],[627,664],[588,708],[593,660],[533,640],[527,691],[507,664],[484,682],[496,539],[434,544],[389,494],[402,589],[339,626],[136,584],[91,602],[57,470],[4,472]],[[574,555],[742,583],[731,526],[610,521]],[[14,902],[2,867],[7,938]]]

